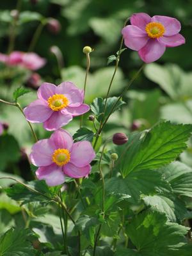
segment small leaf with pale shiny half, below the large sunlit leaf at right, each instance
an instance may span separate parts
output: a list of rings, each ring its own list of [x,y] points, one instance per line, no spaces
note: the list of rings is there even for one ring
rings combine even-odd
[[[184,220],[188,212],[182,201],[170,194],[144,196],[143,201],[145,205],[150,205],[150,209],[166,214],[168,220],[172,222]]]

